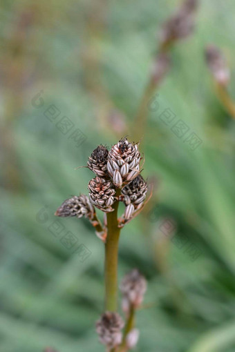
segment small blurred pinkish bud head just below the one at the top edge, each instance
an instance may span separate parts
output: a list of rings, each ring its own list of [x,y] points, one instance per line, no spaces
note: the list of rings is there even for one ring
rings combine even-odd
[[[153,63],[151,79],[155,84],[159,84],[160,81],[167,74],[170,67],[170,58],[167,52],[160,52]]]

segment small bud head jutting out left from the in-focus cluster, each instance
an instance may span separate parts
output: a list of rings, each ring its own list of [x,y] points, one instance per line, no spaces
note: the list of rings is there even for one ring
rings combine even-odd
[[[88,217],[91,219],[94,214],[94,207],[86,195],[74,195],[72,198],[66,199],[55,212],[59,217]]]

